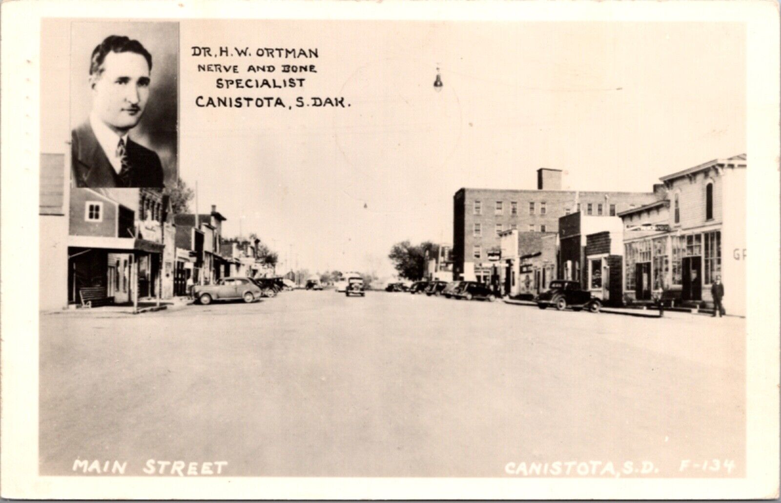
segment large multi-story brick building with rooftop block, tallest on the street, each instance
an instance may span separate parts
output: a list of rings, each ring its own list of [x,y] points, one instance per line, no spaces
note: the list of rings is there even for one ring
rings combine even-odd
[[[537,190],[462,188],[453,196],[454,278],[490,281],[505,230],[558,232],[570,213],[616,216],[656,199],[654,192],[562,191],[562,172],[537,169]],[[656,187],[661,188],[660,187]]]

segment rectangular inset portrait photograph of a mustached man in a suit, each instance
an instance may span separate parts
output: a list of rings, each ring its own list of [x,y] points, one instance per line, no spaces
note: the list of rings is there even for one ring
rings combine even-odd
[[[71,25],[75,187],[177,180],[177,23]]]

